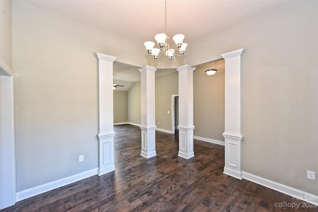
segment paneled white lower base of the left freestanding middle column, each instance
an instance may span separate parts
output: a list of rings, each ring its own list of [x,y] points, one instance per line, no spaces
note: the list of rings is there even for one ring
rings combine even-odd
[[[154,157],[156,152],[156,128],[157,126],[141,126],[141,152],[145,158]]]

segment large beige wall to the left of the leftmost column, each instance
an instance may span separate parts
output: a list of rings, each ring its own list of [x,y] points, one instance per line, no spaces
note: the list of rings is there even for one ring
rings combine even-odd
[[[105,50],[87,31],[12,1],[17,192],[98,167],[95,54]]]

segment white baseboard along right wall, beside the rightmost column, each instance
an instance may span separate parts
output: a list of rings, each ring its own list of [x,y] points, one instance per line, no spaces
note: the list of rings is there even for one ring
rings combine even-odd
[[[318,196],[242,171],[242,178],[318,206]]]

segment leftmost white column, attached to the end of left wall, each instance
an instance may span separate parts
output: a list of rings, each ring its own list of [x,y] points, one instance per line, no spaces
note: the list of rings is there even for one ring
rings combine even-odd
[[[98,175],[114,171],[113,62],[115,57],[97,53],[99,79]]]

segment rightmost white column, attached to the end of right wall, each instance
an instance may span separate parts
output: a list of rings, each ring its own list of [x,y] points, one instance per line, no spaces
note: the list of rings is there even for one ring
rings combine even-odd
[[[241,55],[243,49],[222,54],[225,59],[225,174],[242,179],[241,134]]]

